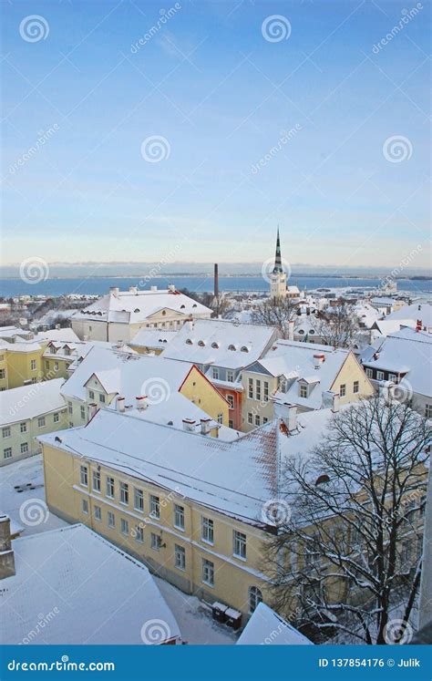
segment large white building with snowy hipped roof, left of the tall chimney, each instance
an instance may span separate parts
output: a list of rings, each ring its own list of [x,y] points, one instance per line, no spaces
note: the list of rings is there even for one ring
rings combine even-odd
[[[178,329],[186,319],[206,319],[211,309],[197,303],[174,286],[158,291],[111,288],[95,303],[72,317],[72,328],[81,340],[128,342],[141,328]]]

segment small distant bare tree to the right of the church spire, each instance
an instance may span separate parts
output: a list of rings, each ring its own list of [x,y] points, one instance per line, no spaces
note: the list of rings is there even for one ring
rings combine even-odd
[[[359,325],[352,304],[338,300],[316,315],[314,329],[325,346],[352,347],[358,340]]]

